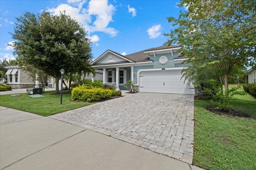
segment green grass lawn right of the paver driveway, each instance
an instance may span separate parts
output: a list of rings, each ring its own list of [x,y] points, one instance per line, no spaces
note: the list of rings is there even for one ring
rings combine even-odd
[[[223,116],[203,108],[214,104],[195,101],[193,164],[205,169],[256,169],[256,99],[248,94],[230,102],[253,118]]]

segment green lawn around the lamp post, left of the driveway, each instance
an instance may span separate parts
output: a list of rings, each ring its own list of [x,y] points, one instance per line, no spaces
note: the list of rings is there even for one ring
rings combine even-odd
[[[26,94],[23,96],[1,95],[0,106],[42,116],[50,116],[92,104],[82,101],[70,101],[70,94],[63,94],[62,105],[60,105],[60,95],[55,95],[54,92],[55,91],[47,91],[43,94],[43,97],[39,98],[31,98]]]

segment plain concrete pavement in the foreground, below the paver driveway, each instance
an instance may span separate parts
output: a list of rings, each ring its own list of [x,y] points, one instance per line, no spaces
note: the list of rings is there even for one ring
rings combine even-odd
[[[0,120],[0,169],[197,168],[48,117],[0,107]]]

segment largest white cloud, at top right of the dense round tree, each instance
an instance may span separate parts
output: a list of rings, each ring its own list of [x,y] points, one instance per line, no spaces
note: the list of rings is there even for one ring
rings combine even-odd
[[[118,31],[115,28],[108,27],[108,24],[113,21],[115,7],[108,3],[108,0],[91,0],[86,8],[83,8],[85,1],[83,0],[68,0],[69,4],[60,4],[56,8],[50,8],[48,11],[54,15],[58,15],[66,11],[72,18],[76,19],[83,25],[86,31],[90,33],[99,31],[109,34],[111,37],[117,35]],[[92,21],[92,16],[95,20]]]

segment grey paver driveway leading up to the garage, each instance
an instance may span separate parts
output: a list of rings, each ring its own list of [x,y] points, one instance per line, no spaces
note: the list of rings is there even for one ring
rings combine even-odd
[[[194,96],[138,93],[50,116],[192,163]]]

